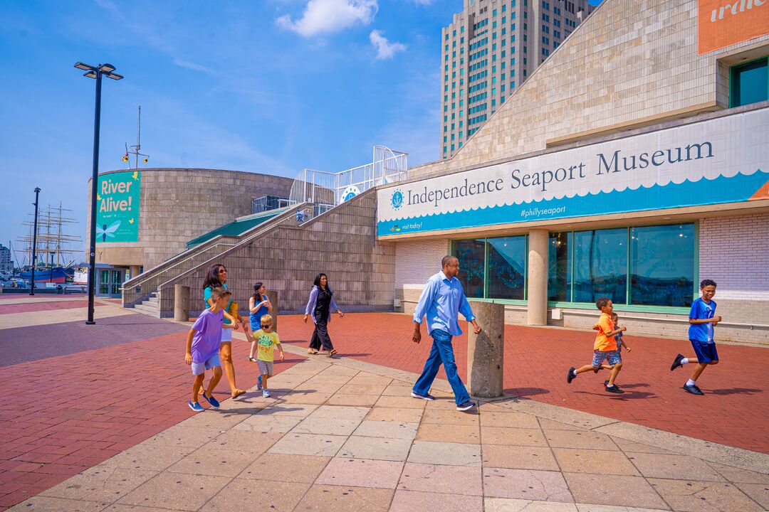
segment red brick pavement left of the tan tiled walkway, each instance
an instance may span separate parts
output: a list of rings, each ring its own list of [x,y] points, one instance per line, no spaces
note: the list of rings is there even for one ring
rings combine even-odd
[[[175,333],[0,368],[0,510],[194,415],[185,339]],[[241,388],[256,383],[248,349],[233,343]],[[275,372],[299,361],[288,354]],[[229,397],[222,381],[220,400]]]

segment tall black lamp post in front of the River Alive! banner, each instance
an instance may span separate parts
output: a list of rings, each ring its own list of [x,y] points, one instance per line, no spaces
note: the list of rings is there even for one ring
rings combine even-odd
[[[87,325],[93,325],[94,322],[94,295],[96,291],[96,194],[98,182],[98,133],[99,123],[102,116],[102,76],[112,78],[112,80],[122,79],[121,74],[115,73],[115,66],[112,64],[99,64],[92,66],[75,62],[75,68],[85,71],[84,77],[96,79],[96,107],[94,109],[94,169],[91,177],[91,240],[88,244],[88,320]]]

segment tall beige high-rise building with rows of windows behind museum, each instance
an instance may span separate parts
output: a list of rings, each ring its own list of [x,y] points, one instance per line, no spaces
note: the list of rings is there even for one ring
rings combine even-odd
[[[441,159],[453,156],[592,10],[588,0],[464,0],[441,31]]]

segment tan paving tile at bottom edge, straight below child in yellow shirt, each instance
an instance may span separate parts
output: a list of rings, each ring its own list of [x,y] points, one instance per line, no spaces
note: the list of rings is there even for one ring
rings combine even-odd
[[[307,492],[309,484],[297,482],[253,481],[235,478],[205,507],[205,512],[242,512],[243,510],[275,510],[291,512]],[[257,507],[257,508],[255,508]]]

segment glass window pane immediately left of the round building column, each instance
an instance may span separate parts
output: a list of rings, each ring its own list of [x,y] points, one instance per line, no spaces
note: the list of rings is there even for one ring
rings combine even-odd
[[[489,299],[526,298],[526,236],[488,239]]]

